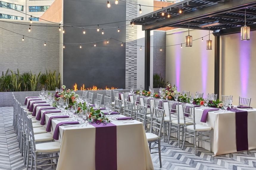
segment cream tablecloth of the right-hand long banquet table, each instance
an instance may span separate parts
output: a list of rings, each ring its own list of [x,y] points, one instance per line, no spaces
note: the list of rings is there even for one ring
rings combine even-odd
[[[121,94],[121,99],[123,95]],[[130,102],[133,102],[133,97],[130,94]],[[154,107],[154,98],[151,98],[151,106]],[[143,97],[140,98],[140,104],[143,105]],[[168,102],[163,102],[163,109],[165,110],[165,116],[169,117]],[[201,117],[203,114],[203,107],[195,109],[195,121],[196,124],[202,124],[212,127],[212,149],[214,155],[223,155],[238,152],[236,145],[236,114],[232,111],[227,112],[208,112],[206,123],[202,123]],[[247,111],[247,130],[248,130],[248,150],[256,149],[256,109],[239,109]],[[182,105],[179,105],[179,115],[183,118]],[[246,116],[246,115],[245,115]],[[246,133],[246,132],[244,132]],[[172,133],[171,136],[177,137],[176,133]],[[193,143],[192,138],[186,139],[188,142]],[[201,141],[200,147],[210,150],[210,143]]]

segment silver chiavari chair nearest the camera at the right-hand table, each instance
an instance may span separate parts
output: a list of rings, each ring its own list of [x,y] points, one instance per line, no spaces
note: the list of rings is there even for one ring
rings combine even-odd
[[[183,137],[183,143],[182,143],[182,150],[184,148],[186,138],[193,137],[194,139],[193,143],[195,145],[195,155],[196,155],[196,142],[198,142],[198,147],[199,147],[200,141],[209,142],[210,152],[212,152],[212,141],[211,141],[212,127],[196,124],[194,106],[182,105],[182,110],[183,110],[183,120],[184,120],[184,137]],[[188,123],[191,125],[188,125]],[[186,137],[186,135],[188,135],[188,137]]]

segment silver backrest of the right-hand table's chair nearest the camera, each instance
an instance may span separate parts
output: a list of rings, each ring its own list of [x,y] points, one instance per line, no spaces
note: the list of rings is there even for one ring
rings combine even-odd
[[[184,127],[186,128],[186,122],[194,126],[194,131],[196,130],[196,121],[195,121],[195,107],[190,105],[182,104]],[[191,124],[192,123],[192,124]]]

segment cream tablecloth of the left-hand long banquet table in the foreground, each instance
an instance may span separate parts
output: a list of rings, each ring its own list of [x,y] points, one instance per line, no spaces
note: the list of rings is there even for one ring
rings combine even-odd
[[[28,104],[32,104],[33,101],[28,99]],[[40,103],[42,104],[42,103]],[[45,104],[45,103],[43,103]],[[38,104],[33,104],[33,107]],[[38,106],[36,107],[36,116],[38,115],[38,111],[42,107],[47,106]],[[49,106],[48,106],[49,107]],[[56,109],[54,109],[56,110]],[[49,111],[49,110],[48,110]],[[43,112],[46,110],[41,110],[41,116]],[[58,115],[56,113],[48,113],[45,114],[46,124],[47,126],[49,118],[51,116]],[[60,114],[61,115],[61,114]],[[119,115],[122,117],[123,115]],[[51,120],[51,128],[52,131],[50,133],[53,134],[55,127],[58,123],[67,120]],[[39,121],[40,122],[40,121]],[[132,123],[129,123],[132,122]],[[120,170],[153,170],[153,163],[151,159],[151,155],[149,152],[149,147],[146,139],[145,130],[143,128],[143,124],[139,121],[132,120],[129,122],[120,122],[120,121],[112,121],[114,125],[116,125],[116,163],[117,169]],[[61,170],[70,170],[70,169],[96,169],[95,165],[95,155],[96,153],[96,128],[93,125],[88,125],[85,127],[65,127],[59,126],[60,136],[59,142],[61,142],[60,148],[60,156],[57,164],[57,169]],[[106,138],[104,141],[110,140]],[[109,146],[109,149],[111,148]],[[107,150],[107,149],[106,149]],[[102,163],[104,163],[104,157],[101,158]],[[98,162],[99,160],[97,160]],[[107,167],[106,167],[107,169]]]

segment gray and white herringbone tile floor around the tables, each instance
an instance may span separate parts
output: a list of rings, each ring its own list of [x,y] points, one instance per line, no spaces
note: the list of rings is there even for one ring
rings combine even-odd
[[[0,170],[26,169],[13,130],[12,118],[13,107],[0,107]],[[203,148],[198,148],[194,155],[194,147],[190,143],[186,143],[184,150],[177,146],[175,138],[170,140],[169,144],[162,139],[162,168],[158,154],[151,155],[155,170],[256,170],[256,150],[213,157],[213,153]],[[53,169],[56,169],[56,166]]]

